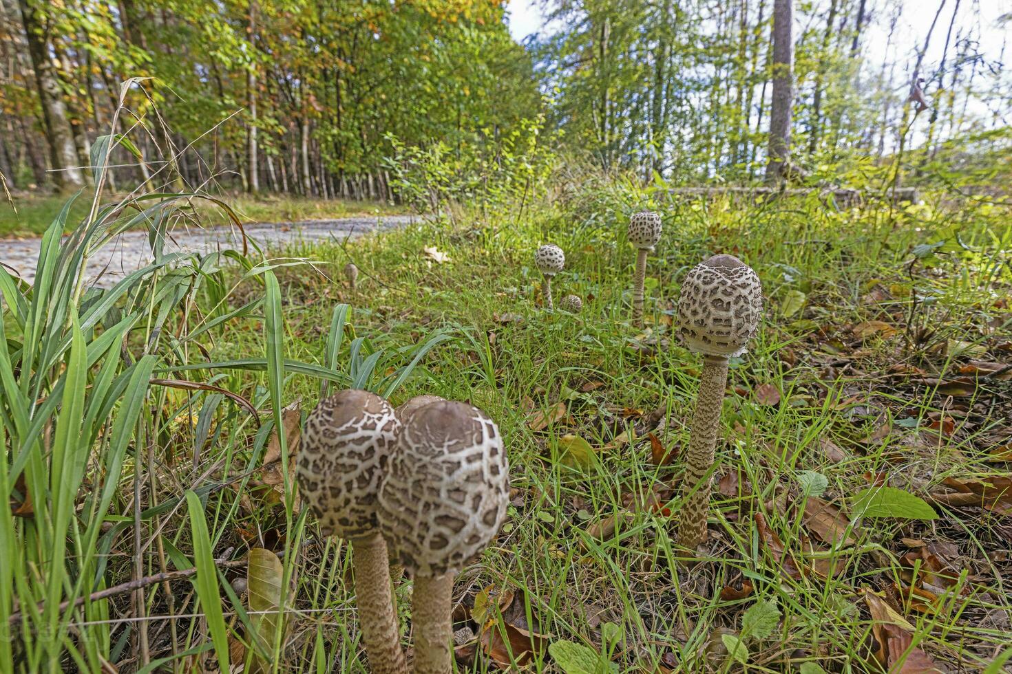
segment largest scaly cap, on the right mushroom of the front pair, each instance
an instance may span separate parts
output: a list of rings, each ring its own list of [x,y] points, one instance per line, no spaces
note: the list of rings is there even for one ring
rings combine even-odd
[[[495,421],[463,402],[416,410],[380,486],[392,559],[425,577],[458,572],[506,517],[509,465]]]

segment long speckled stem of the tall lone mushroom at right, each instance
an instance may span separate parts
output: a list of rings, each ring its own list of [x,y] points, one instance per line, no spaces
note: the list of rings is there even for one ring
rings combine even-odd
[[[728,359],[704,356],[699,393],[696,396],[689,449],[685,458],[684,491],[678,519],[678,543],[694,550],[706,540],[706,514],[709,509],[710,468],[728,385]]]

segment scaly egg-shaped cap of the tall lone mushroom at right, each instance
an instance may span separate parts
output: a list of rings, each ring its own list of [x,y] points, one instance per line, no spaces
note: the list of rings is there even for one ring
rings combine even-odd
[[[715,255],[693,267],[678,296],[678,333],[690,351],[741,356],[759,328],[762,286],[738,258]]]

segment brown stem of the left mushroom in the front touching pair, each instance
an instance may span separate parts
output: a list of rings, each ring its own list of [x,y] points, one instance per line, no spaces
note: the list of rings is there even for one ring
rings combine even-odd
[[[407,674],[401,650],[401,631],[391,590],[387,542],[371,534],[352,542],[355,569],[355,602],[369,671],[376,674]]]

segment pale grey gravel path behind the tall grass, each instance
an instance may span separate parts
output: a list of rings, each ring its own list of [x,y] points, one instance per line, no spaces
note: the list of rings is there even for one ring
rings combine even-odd
[[[415,220],[412,215],[380,217],[342,217],[333,220],[301,222],[255,222],[244,225],[246,235],[260,247],[276,247],[298,242],[355,238],[370,231],[401,227]],[[241,250],[239,230],[229,227],[176,230],[166,242],[165,253],[210,252],[219,248]],[[0,238],[0,262],[12,267],[26,281],[35,277],[38,260],[38,238]],[[110,242],[88,261],[88,280],[109,287],[124,275],[147,265],[152,260],[147,231],[128,231]]]

